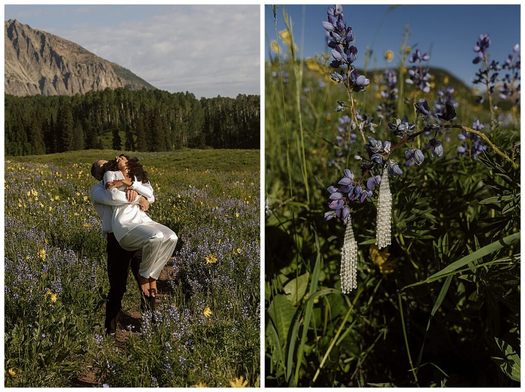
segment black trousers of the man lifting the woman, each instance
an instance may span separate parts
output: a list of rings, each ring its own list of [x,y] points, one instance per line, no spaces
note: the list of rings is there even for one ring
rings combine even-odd
[[[117,324],[122,309],[122,297],[126,292],[126,285],[128,283],[128,273],[131,270],[137,281],[139,274],[140,257],[135,257],[136,250],[123,249],[113,233],[108,233],[108,278],[109,278],[109,293],[108,301],[106,302],[106,321],[104,327],[106,332],[114,333],[117,331]],[[143,308],[144,300],[141,295],[141,308]]]

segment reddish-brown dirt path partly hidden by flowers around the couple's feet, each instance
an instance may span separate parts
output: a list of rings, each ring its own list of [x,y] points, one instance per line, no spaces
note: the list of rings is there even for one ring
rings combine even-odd
[[[159,279],[157,281],[157,300],[156,304],[159,305],[162,298],[170,292],[171,285],[170,280],[173,279],[173,261],[167,262],[164,269],[161,271]],[[134,289],[137,287],[135,286]],[[119,328],[115,336],[115,345],[122,350],[125,350],[126,343],[132,334],[139,334],[140,331],[140,303],[128,310],[122,310]],[[131,331],[128,329],[131,326]],[[96,363],[86,364],[85,370],[80,373],[77,378],[71,380],[71,387],[87,388],[87,387],[100,387],[100,383],[97,380],[97,367]]]

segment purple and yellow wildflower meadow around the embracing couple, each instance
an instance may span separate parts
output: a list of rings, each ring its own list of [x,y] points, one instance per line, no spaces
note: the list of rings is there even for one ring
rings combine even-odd
[[[148,214],[180,245],[156,323],[132,274],[116,339],[103,335],[106,241],[87,150],[5,158],[5,386],[258,386],[259,151],[129,153],[149,173]]]

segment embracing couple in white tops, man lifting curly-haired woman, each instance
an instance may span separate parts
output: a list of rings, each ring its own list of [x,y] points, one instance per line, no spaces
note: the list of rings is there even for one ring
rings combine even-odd
[[[138,158],[98,160],[91,175],[100,182],[90,191],[107,239],[109,293],[104,329],[114,335],[131,267],[141,291],[141,313],[155,310],[156,280],[175,250],[177,235],[147,214],[153,188]]]

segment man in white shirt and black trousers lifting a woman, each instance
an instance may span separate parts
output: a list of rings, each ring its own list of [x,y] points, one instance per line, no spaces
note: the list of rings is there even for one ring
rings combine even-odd
[[[106,320],[104,321],[104,329],[109,335],[114,335],[117,331],[117,324],[120,317],[122,297],[126,291],[128,281],[128,271],[131,264],[131,269],[135,280],[138,281],[139,264],[141,260],[140,251],[128,251],[123,249],[113,234],[111,228],[111,217],[113,215],[112,206],[123,204],[139,204],[143,211],[148,210],[150,203],[155,201],[152,195],[149,199],[141,196],[136,190],[129,187],[127,192],[119,191],[109,198],[106,194],[106,188],[102,180],[102,165],[106,163],[105,160],[98,160],[91,166],[91,175],[100,182],[93,185],[90,190],[91,203],[97,210],[97,213],[102,218],[102,237],[108,240],[108,278],[109,278],[109,293],[106,302]],[[143,184],[149,186],[150,184]],[[152,190],[152,189],[151,189]],[[152,194],[152,192],[151,192]],[[149,304],[141,295],[141,312],[148,309]]]

